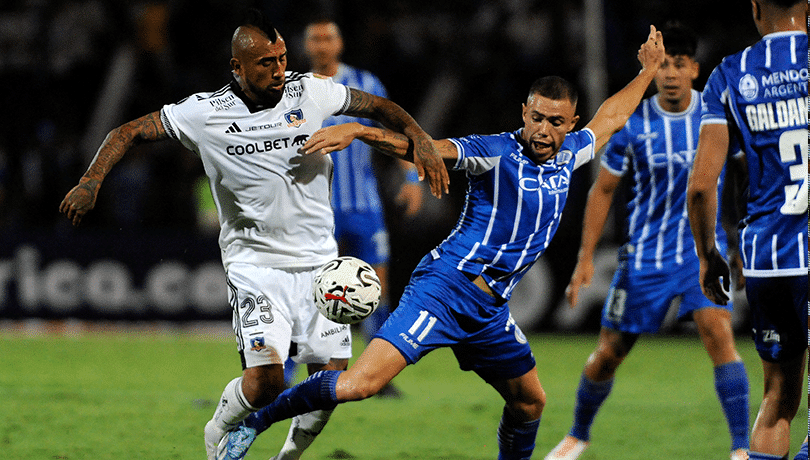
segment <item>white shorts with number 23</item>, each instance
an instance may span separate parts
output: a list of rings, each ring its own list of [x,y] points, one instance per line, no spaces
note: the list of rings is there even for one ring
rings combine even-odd
[[[312,277],[317,268],[229,265],[228,300],[246,368],[284,364],[290,342],[298,344],[293,357],[298,363],[351,358],[351,327],[329,321],[315,308]]]

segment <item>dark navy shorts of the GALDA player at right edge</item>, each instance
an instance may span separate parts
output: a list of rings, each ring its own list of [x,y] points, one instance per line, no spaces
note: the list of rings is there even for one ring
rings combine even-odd
[[[807,277],[745,279],[751,329],[760,358],[791,361],[807,350]]]

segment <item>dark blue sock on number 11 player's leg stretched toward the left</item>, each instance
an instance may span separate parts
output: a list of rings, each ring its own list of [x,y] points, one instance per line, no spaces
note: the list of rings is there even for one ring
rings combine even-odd
[[[334,409],[337,378],[343,371],[319,371],[285,390],[275,401],[245,418],[244,423],[261,433],[270,425],[314,410]]]

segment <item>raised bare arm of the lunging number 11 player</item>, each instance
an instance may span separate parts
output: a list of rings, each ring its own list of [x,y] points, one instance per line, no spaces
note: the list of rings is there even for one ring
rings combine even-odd
[[[601,149],[610,136],[618,132],[644,97],[655,74],[664,62],[664,39],[661,32],[650,26],[647,41],[638,50],[641,72],[618,93],[607,98],[599,107],[593,119],[586,126],[596,135],[595,150]]]

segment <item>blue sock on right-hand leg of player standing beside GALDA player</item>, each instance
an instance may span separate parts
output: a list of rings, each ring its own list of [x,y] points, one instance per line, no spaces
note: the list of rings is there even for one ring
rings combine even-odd
[[[731,433],[731,450],[748,448],[748,376],[742,361],[714,368],[714,388]]]

